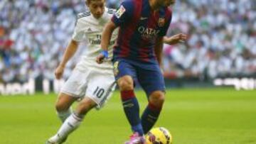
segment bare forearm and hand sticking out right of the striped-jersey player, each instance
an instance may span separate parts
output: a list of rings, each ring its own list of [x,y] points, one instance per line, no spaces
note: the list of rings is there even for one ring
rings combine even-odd
[[[169,45],[176,45],[177,43],[183,43],[184,41],[187,40],[187,38],[188,36],[183,33],[179,33],[171,37],[164,36],[164,43]]]

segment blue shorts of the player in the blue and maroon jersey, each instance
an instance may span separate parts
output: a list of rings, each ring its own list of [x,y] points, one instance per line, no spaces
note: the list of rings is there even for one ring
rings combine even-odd
[[[142,64],[124,59],[115,60],[115,79],[117,80],[126,75],[131,76],[134,79],[134,83],[139,82],[147,96],[155,91],[165,92],[164,76],[158,64]]]

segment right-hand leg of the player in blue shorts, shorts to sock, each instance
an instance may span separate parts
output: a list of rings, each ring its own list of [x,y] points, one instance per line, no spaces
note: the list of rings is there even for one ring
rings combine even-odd
[[[138,79],[149,98],[149,104],[142,114],[143,130],[147,133],[159,118],[164,104],[164,77],[156,66],[154,70],[139,70]]]

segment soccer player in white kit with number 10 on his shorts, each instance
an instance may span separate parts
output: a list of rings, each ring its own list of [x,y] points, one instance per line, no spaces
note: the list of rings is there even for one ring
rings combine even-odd
[[[65,50],[63,60],[55,70],[56,79],[62,77],[66,63],[75,54],[80,42],[87,43],[87,52],[82,55],[82,60],[76,65],[60,91],[55,109],[63,125],[58,133],[47,140],[48,144],[63,143],[68,135],[80,126],[85,114],[94,107],[100,109],[114,91],[111,57],[117,31],[112,36],[110,50],[104,54],[110,59],[107,59],[103,65],[95,62],[97,55],[102,51],[100,42],[103,28],[112,18],[114,10],[105,7],[105,0],[85,0],[85,3],[90,11],[78,14],[72,40]],[[70,106],[80,98],[82,101],[72,113]]]

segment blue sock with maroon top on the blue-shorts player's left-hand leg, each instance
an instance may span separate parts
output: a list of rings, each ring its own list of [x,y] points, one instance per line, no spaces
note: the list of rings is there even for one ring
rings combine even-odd
[[[139,102],[135,97],[134,91],[122,91],[122,105],[124,113],[127,116],[129,124],[132,126],[132,131],[143,135],[143,128],[139,117]]]

